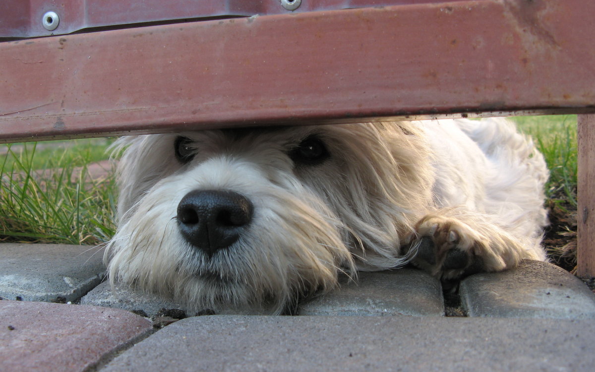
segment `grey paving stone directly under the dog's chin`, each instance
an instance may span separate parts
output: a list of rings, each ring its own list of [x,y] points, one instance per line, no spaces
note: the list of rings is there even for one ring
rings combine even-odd
[[[120,308],[128,311],[143,314],[147,317],[154,317],[161,309],[179,309],[186,312],[187,316],[193,316],[204,312],[205,309],[187,307],[178,302],[161,298],[152,293],[145,293],[139,290],[130,289],[126,286],[116,285],[114,291],[109,283],[104,282],[96,286],[80,300],[82,305],[95,305],[112,308]],[[258,308],[214,308],[208,309],[215,314],[266,314],[267,311]]]

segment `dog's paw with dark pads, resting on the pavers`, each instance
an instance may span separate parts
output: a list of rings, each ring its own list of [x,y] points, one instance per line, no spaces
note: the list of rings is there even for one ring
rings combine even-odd
[[[412,264],[440,279],[483,271],[481,252],[486,237],[454,218],[427,215],[410,237],[411,249],[417,251]]]

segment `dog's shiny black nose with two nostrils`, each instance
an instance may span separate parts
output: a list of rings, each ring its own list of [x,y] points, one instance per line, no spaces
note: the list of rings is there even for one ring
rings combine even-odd
[[[252,202],[239,193],[193,190],[178,204],[177,219],[187,242],[213,254],[236,242],[253,213]]]

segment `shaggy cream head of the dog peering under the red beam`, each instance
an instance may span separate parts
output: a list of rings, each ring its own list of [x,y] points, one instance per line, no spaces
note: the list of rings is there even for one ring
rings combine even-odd
[[[430,200],[409,123],[124,137],[111,280],[195,307],[281,311],[337,273],[400,263]]]

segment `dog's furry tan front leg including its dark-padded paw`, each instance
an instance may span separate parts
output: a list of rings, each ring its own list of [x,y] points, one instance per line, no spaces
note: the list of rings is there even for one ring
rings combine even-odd
[[[415,251],[411,262],[440,279],[456,279],[505,270],[524,258],[538,259],[531,239],[515,237],[490,219],[456,208],[425,215],[408,239]]]

